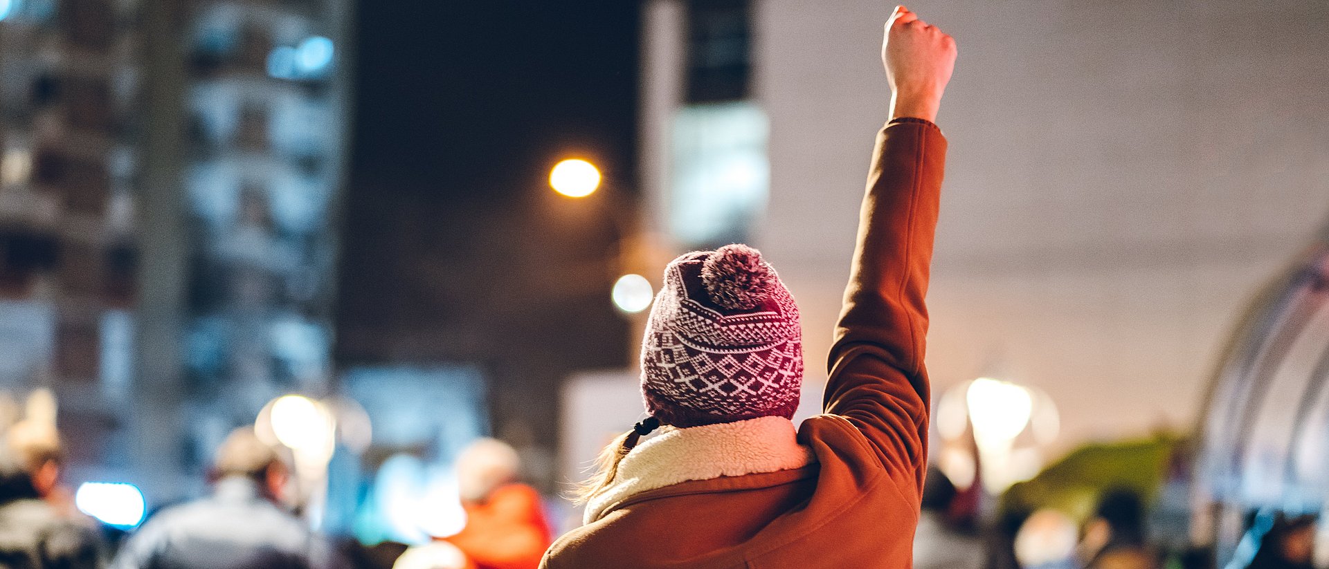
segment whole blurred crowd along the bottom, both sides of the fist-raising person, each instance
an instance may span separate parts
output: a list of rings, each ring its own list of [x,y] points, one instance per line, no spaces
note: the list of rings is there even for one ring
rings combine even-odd
[[[40,407],[40,405],[37,406]],[[361,545],[319,535],[292,504],[290,456],[251,427],[215,451],[210,493],[154,512],[128,535],[76,508],[62,483],[60,435],[40,416],[0,444],[0,568],[109,569],[534,569],[553,540],[541,495],[517,481],[518,454],[478,439],[456,460],[464,528],[427,544]],[[1205,550],[1160,544],[1138,491],[1106,488],[1084,520],[1051,508],[987,524],[982,489],[929,471],[914,542],[918,569],[1197,569]],[[1225,569],[1312,569],[1313,516],[1252,512]]]

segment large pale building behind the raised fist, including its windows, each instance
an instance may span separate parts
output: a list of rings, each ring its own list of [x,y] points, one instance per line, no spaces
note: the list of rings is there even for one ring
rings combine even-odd
[[[748,240],[767,255],[803,309],[811,393],[888,118],[890,8],[643,8],[654,227],[675,251]],[[1314,80],[1329,73],[1329,5],[913,8],[960,45],[938,118],[933,393],[977,377],[1042,390],[1062,448],[1189,427],[1235,314],[1329,206],[1329,125],[1308,119],[1329,107]]]

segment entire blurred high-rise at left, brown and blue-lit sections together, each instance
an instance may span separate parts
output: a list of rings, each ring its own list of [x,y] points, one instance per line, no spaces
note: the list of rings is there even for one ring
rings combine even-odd
[[[0,389],[54,387],[72,481],[161,504],[327,390],[348,8],[0,1]]]

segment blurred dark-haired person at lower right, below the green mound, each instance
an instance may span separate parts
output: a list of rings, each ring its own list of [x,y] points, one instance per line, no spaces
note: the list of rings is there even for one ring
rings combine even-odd
[[[1144,501],[1132,489],[1114,488],[1099,497],[1084,527],[1086,569],[1156,569],[1159,554],[1146,540]]]

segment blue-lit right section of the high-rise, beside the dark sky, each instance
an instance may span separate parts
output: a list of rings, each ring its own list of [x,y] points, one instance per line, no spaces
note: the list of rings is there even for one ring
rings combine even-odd
[[[190,5],[181,243],[191,464],[268,399],[330,386],[347,9]]]

